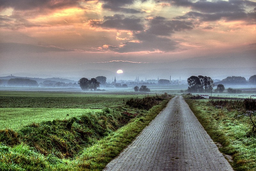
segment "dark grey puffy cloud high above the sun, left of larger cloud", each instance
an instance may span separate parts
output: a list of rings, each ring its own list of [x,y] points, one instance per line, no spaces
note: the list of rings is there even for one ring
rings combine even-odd
[[[115,14],[113,16],[104,16],[104,22],[91,20],[91,26],[140,31],[143,30],[143,25],[140,22],[141,20],[135,16],[125,17],[122,14]]]

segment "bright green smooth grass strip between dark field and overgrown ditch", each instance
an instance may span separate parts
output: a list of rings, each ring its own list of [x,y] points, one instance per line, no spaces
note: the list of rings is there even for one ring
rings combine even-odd
[[[0,130],[19,130],[24,125],[52,121],[54,119],[69,119],[89,112],[98,112],[101,109],[74,109],[74,108],[0,108]],[[68,116],[67,116],[68,115]]]

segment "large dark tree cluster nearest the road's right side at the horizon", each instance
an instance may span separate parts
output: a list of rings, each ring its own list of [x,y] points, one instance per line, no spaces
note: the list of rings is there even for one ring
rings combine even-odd
[[[214,87],[212,78],[207,76],[191,76],[187,81],[189,93],[209,93]]]

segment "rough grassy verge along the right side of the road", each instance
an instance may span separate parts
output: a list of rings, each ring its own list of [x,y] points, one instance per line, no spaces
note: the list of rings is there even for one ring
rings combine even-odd
[[[221,144],[220,151],[232,156],[232,167],[255,171],[256,137],[249,117],[240,116],[244,110],[212,106],[205,100],[186,101],[213,141]]]

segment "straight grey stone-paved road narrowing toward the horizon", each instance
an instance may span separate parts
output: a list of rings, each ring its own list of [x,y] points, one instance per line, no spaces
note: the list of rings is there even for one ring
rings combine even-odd
[[[175,96],[104,169],[233,171],[182,96]]]

